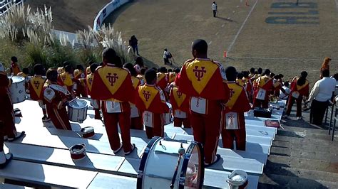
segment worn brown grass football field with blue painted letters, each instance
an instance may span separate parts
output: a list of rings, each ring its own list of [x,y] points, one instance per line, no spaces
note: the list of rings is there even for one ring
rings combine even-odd
[[[338,5],[335,0],[295,1],[249,0],[248,6],[245,0],[216,1],[213,18],[212,1],[135,0],[106,22],[127,42],[135,35],[149,63],[163,65],[163,48],[168,48],[180,66],[191,58],[191,42],[203,38],[210,58],[225,66],[270,68],[285,79],[306,70],[313,84],[325,56],[332,58],[332,74],[337,72]]]

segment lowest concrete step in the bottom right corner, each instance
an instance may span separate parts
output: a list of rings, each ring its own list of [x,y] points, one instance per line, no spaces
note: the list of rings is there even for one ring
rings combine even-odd
[[[337,182],[299,178],[277,174],[265,174],[260,178],[258,188],[338,188]]]

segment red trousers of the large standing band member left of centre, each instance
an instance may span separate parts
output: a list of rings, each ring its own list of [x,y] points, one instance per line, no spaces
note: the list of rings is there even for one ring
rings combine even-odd
[[[111,149],[113,151],[116,151],[121,146],[120,136],[118,135],[119,125],[121,129],[123,151],[131,151],[132,146],[130,143],[130,111],[121,113],[107,113],[106,111],[103,111],[103,119]]]

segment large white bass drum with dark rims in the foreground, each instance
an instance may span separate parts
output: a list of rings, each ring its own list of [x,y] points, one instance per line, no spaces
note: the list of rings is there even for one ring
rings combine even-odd
[[[181,148],[185,149],[182,156],[178,153]],[[173,188],[202,188],[203,180],[204,153],[201,144],[154,137],[143,153],[137,188],[170,188],[170,185]]]

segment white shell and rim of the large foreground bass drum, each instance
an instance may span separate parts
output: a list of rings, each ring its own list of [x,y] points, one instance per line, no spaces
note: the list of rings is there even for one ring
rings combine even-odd
[[[160,139],[158,137],[149,142],[140,163],[137,188],[169,188],[175,172],[175,166],[178,163],[180,144],[183,144],[185,149],[195,146],[195,143],[181,143],[173,139]],[[200,149],[200,153],[203,156],[202,146],[195,147]],[[190,161],[190,155],[183,155],[178,166],[174,188],[184,188],[188,161]],[[203,185],[204,164],[202,164],[202,161],[199,168],[202,171],[200,173],[202,176],[200,185]]]

